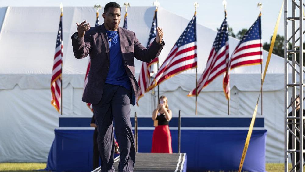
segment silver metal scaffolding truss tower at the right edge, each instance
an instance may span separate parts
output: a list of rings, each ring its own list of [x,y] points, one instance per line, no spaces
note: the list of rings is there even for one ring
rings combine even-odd
[[[289,154],[292,169],[303,172],[303,0],[285,0],[285,171],[288,171]],[[288,31],[291,34],[288,33]],[[288,59],[289,58],[289,59]],[[297,61],[298,60],[298,61]],[[292,71],[288,71],[292,69]],[[289,73],[289,74],[288,74]],[[299,98],[300,97],[300,98]],[[302,99],[303,98],[303,99]],[[300,101],[301,100],[301,101]],[[289,111],[292,113],[289,115]],[[289,135],[292,141],[289,146]],[[303,137],[304,138],[304,137]],[[301,162],[301,163],[300,163]],[[302,164],[301,166],[299,164]]]

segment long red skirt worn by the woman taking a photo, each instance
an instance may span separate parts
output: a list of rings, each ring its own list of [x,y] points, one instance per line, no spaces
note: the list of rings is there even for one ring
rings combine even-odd
[[[155,127],[152,134],[152,153],[173,153],[168,125]]]

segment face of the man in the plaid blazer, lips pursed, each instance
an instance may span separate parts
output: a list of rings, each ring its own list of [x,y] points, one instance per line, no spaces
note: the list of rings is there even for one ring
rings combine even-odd
[[[117,30],[121,21],[121,11],[119,8],[109,7],[106,13],[103,13],[104,24],[107,30]]]

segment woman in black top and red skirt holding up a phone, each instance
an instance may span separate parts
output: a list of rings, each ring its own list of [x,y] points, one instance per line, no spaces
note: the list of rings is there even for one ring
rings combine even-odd
[[[168,122],[172,112],[168,109],[167,98],[161,96],[157,108],[152,112],[155,130],[152,134],[152,153],[173,153]]]

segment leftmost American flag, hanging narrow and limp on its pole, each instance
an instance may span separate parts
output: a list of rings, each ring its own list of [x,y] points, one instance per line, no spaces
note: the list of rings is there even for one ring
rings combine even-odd
[[[58,34],[51,79],[51,104],[59,112],[61,106],[62,67],[63,67],[63,13],[60,14]]]

